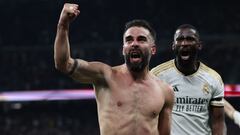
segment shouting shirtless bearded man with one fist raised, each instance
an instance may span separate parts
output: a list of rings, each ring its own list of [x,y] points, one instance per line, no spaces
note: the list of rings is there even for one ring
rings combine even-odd
[[[168,135],[174,101],[172,88],[149,72],[156,53],[156,34],[144,20],[126,24],[123,33],[125,63],[111,67],[70,56],[69,24],[80,11],[64,4],[54,45],[58,70],[94,86],[101,135]]]

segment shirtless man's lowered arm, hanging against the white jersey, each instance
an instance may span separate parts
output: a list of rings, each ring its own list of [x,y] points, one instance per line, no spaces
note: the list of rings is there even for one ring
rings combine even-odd
[[[172,87],[166,86],[165,104],[159,114],[158,131],[160,135],[170,135],[172,122],[172,108],[174,104],[174,92]]]

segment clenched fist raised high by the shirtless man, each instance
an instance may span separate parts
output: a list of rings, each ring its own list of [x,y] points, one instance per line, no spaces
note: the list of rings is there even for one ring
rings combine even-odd
[[[77,4],[65,3],[59,18],[60,25],[69,25],[80,13]]]

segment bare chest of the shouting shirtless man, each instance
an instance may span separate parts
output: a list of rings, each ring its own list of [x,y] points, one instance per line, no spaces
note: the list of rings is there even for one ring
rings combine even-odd
[[[120,83],[112,85],[109,92],[109,104],[121,113],[155,118],[164,104],[162,90],[154,83]]]

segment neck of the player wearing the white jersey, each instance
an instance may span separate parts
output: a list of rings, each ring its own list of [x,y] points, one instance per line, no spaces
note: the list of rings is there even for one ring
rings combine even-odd
[[[197,60],[193,60],[190,62],[183,62],[178,60],[177,58],[174,60],[177,69],[183,73],[184,75],[191,75],[198,70],[200,62]]]

